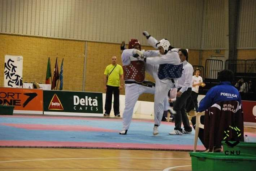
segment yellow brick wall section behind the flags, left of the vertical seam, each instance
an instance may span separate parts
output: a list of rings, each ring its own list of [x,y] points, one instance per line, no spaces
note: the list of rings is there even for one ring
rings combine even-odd
[[[23,56],[23,82],[45,83],[48,57],[52,75],[58,54],[58,69],[64,58],[64,89],[81,91],[84,42],[0,34],[0,86],[4,85],[4,56]],[[65,56],[64,56],[65,54]],[[60,85],[60,83],[58,84]]]

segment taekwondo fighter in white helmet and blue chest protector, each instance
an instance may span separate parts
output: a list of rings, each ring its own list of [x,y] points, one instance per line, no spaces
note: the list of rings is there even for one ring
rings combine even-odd
[[[154,98],[155,126],[153,128],[153,135],[157,135],[164,112],[166,95],[171,88],[175,87],[178,78],[181,77],[182,63],[178,51],[170,45],[168,40],[162,39],[157,41],[147,31],[143,31],[143,35],[148,39],[148,43],[158,49],[160,53],[156,57],[145,56],[144,58],[146,65],[150,64],[157,67],[153,72],[153,78],[156,81]]]

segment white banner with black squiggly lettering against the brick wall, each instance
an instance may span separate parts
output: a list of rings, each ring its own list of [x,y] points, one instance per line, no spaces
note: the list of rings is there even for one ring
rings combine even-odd
[[[5,55],[4,87],[22,86],[23,57]]]

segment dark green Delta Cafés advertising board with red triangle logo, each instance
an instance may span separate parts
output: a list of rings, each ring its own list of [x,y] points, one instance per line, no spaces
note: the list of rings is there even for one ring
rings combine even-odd
[[[103,116],[102,93],[43,91],[44,114]]]

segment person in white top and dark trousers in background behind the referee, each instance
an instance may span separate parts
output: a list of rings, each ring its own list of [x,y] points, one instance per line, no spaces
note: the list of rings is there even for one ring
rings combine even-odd
[[[198,90],[199,86],[204,87],[203,78],[200,75],[200,69],[195,69],[195,75],[192,77],[192,92],[191,96],[187,99],[186,111],[190,112],[192,109],[198,110]]]

